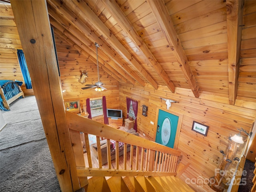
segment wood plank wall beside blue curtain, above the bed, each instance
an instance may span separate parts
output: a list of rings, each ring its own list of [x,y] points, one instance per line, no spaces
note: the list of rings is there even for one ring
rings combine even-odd
[[[22,46],[12,8],[11,6],[0,4],[0,9],[0,80],[22,81],[21,88],[25,96],[34,95],[33,89],[26,89],[20,70],[17,49],[22,49]]]

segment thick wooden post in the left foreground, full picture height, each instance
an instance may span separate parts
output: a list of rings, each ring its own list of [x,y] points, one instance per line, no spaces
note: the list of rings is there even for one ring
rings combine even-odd
[[[46,0],[11,0],[60,189],[80,189],[66,121]]]

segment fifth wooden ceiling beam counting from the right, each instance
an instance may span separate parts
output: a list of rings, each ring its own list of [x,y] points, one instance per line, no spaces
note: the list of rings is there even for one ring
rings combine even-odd
[[[58,1],[52,1],[48,0],[48,3],[50,3],[50,6],[54,7],[57,11],[58,14],[60,14],[61,17],[59,22],[61,22],[64,19],[68,21],[76,30],[80,31],[86,39],[92,41],[92,42],[97,42],[100,45],[100,49],[98,49],[98,52],[104,52],[111,60],[113,61],[113,64],[110,64],[112,68],[114,68],[116,71],[122,74],[125,78],[127,78],[132,84],[135,84],[134,80],[139,82],[140,84],[144,85],[144,81],[137,75],[135,74],[128,66],[125,64],[94,32],[90,30],[83,22],[80,21],[79,18],[68,8],[66,8],[63,4],[61,4]],[[50,8],[50,7],[49,7]],[[51,11],[51,14],[55,14],[53,11]],[[71,26],[67,27],[68,30],[71,30]],[[76,36],[76,35],[75,35]],[[80,38],[81,41],[84,41],[84,37]],[[93,43],[94,44],[94,43]],[[91,46],[88,46],[89,48]],[[99,54],[100,56],[101,54]],[[105,60],[106,61],[106,60]],[[121,71],[125,72],[121,72]],[[125,74],[126,73],[126,74]],[[130,76],[130,77],[128,77]],[[134,80],[133,80],[134,79]]]

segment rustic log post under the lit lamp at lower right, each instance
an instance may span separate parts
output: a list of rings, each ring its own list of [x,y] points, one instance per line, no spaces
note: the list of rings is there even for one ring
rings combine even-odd
[[[226,170],[228,169],[228,166],[231,164],[232,160],[234,159],[234,156],[236,154],[236,150],[238,148],[238,143],[232,141],[229,138],[229,147],[228,147],[228,152],[225,155],[225,157],[222,159],[220,166],[219,166],[219,171],[215,176],[211,177],[209,180],[210,182],[208,185],[210,188],[212,188],[214,191],[217,192],[222,192],[225,188],[225,184],[222,182],[222,179],[226,173]],[[223,151],[221,151],[223,154]]]

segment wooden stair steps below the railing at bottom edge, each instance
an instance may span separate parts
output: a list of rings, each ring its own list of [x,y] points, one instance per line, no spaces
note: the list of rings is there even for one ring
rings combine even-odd
[[[114,176],[92,177],[84,187],[86,192],[194,192],[176,176]]]

